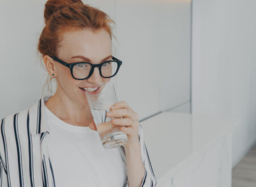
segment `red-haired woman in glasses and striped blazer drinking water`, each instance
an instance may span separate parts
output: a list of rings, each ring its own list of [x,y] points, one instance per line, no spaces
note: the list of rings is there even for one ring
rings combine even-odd
[[[47,1],[44,19],[38,50],[57,90],[1,120],[1,186],[155,186],[138,114],[115,103],[108,116],[128,141],[103,148],[85,90],[110,78],[98,66],[88,74],[77,73],[85,64],[69,66],[119,61],[112,56],[114,21],[80,0]]]

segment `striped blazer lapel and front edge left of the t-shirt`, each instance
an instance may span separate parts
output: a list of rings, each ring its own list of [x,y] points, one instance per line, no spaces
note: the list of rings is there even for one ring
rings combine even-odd
[[[28,126],[31,132],[32,154],[30,158],[31,186],[54,187],[55,179],[47,143],[49,137],[44,101],[49,96],[42,97],[34,104],[28,113]]]

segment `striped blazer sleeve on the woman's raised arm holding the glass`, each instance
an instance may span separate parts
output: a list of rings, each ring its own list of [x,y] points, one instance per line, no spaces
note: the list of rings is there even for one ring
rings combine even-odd
[[[147,152],[147,146],[144,142],[143,128],[141,124],[139,125],[139,143],[141,145],[141,157],[145,168],[144,177],[140,187],[155,187],[156,178],[150,162],[150,158]],[[129,187],[128,179],[126,179],[125,187]]]

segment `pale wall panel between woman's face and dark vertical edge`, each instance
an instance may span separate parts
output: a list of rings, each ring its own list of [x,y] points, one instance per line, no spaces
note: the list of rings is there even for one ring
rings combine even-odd
[[[140,118],[190,103],[190,1],[116,1],[120,100]],[[137,69],[135,68],[137,66]],[[180,111],[189,112],[189,105]]]

